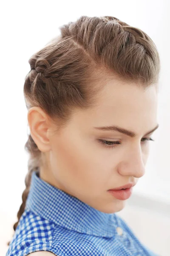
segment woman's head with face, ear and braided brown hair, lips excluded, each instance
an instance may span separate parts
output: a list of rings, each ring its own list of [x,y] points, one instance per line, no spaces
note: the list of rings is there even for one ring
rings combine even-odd
[[[144,175],[147,133],[157,125],[160,61],[148,35],[115,17],[82,16],[60,30],[29,60],[24,97],[30,158],[18,221],[36,170],[99,211],[122,210],[125,201],[108,190]],[[104,126],[133,134],[99,129]]]

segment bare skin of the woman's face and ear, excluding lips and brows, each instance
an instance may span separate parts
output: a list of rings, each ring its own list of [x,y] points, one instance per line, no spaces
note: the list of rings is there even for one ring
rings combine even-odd
[[[149,139],[153,133],[144,134],[158,124],[157,90],[110,79],[96,107],[74,111],[66,128],[54,132],[57,124],[39,107],[28,111],[28,124],[45,154],[40,167],[43,180],[101,212],[119,212],[126,200],[114,198],[108,189],[137,183],[145,173],[151,142],[143,138]],[[136,137],[94,128],[111,125],[133,131]],[[121,144],[107,146],[99,139]]]

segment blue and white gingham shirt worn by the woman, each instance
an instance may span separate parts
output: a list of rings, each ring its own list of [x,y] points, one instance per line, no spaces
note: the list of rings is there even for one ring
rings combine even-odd
[[[26,207],[6,256],[159,256],[116,213],[100,212],[33,172]]]

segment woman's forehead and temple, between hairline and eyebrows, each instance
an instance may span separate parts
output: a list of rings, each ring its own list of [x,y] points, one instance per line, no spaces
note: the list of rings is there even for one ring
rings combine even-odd
[[[77,113],[76,119],[88,126],[119,125],[136,133],[149,131],[157,124],[157,91],[135,84],[110,80],[97,96],[94,108]]]

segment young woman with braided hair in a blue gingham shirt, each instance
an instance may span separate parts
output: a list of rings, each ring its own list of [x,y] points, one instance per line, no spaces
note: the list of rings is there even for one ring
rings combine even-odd
[[[116,212],[158,128],[159,53],[116,17],[60,30],[29,60],[30,159],[6,256],[156,256]]]

